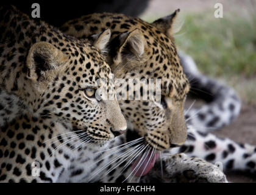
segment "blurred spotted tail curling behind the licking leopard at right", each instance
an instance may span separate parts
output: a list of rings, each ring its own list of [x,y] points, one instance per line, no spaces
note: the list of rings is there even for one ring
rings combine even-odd
[[[189,55],[180,52],[179,57],[190,80],[194,98],[206,102],[200,108],[192,107],[185,112],[187,123],[201,132],[210,132],[233,122],[241,109],[241,100],[235,90],[201,74]]]

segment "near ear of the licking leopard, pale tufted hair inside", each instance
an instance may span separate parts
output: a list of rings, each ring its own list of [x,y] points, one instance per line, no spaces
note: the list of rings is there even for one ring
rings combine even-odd
[[[115,48],[113,63],[118,65],[127,59],[140,59],[145,47],[146,41],[139,29],[124,32],[112,41],[112,48]]]

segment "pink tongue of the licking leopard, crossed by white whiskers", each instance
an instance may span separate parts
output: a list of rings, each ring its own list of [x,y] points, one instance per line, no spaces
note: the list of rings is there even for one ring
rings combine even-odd
[[[143,155],[142,155],[143,156]],[[152,167],[155,165],[155,161],[157,161],[157,158],[159,156],[159,153],[156,152],[155,154],[152,154],[151,152],[146,156],[138,158],[137,160],[133,161],[132,163],[132,171],[135,176],[145,176],[148,174],[148,172],[152,169]]]

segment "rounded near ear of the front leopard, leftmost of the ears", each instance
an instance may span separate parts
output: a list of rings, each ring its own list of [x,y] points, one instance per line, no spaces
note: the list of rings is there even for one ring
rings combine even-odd
[[[46,80],[49,71],[58,69],[67,60],[68,56],[51,43],[44,41],[35,43],[27,55],[27,78],[34,81]]]

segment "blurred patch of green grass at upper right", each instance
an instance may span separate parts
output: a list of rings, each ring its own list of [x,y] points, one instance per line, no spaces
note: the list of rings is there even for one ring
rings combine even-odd
[[[214,77],[256,76],[256,14],[235,13],[215,18],[212,12],[185,17],[175,36],[179,49],[191,55],[199,69]]]

